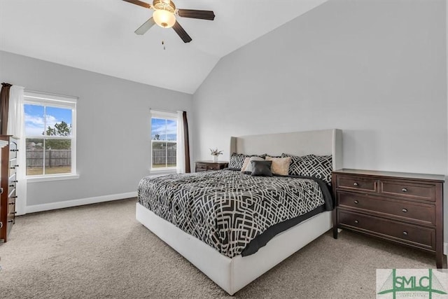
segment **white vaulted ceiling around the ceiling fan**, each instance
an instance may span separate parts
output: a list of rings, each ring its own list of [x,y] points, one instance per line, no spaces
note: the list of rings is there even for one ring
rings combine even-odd
[[[134,34],[152,11],[125,1],[0,0],[0,50],[193,94],[221,57],[325,1],[175,0],[216,15],[179,17],[183,43],[158,26]]]

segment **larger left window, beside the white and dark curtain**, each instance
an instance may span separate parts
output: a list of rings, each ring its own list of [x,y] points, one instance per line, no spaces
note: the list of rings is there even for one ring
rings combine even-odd
[[[24,95],[27,177],[76,174],[76,98]]]

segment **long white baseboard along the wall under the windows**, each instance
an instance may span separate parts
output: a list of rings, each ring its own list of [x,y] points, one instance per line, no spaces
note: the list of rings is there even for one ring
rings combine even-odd
[[[137,197],[137,191],[103,195],[96,197],[88,197],[80,200],[66,200],[64,202],[50,202],[48,204],[34,204],[32,206],[25,207],[25,214],[36,213],[37,211],[50,211],[52,209],[64,209],[69,207],[82,206],[84,204],[96,204],[97,202],[110,202],[112,200],[123,200],[125,198]]]

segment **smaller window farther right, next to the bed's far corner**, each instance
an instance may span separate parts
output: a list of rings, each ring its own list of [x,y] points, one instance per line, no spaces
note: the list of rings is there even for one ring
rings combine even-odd
[[[151,110],[151,170],[176,169],[177,115]]]

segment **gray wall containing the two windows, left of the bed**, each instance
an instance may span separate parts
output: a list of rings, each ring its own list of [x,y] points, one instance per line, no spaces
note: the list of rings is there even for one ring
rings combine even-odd
[[[27,206],[135,192],[139,180],[149,174],[149,109],[187,111],[193,123],[192,95],[1,51],[0,82],[79,97],[80,177],[28,183]]]

